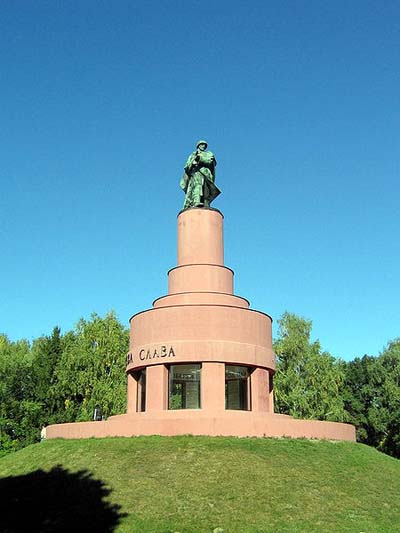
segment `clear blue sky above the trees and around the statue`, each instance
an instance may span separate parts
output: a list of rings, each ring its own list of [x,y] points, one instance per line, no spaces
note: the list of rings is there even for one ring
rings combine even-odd
[[[6,0],[0,331],[167,290],[178,182],[218,160],[235,292],[335,357],[400,336],[398,0]]]

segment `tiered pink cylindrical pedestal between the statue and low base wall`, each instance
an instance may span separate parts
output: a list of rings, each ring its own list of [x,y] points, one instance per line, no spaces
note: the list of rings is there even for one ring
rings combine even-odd
[[[168,272],[168,294],[131,318],[128,412],[157,412],[160,417],[164,411],[167,416],[175,405],[172,388],[187,389],[188,374],[182,372],[193,368],[200,376],[200,384],[190,383],[199,395],[193,416],[230,408],[272,411],[272,321],[233,294],[233,271],[223,258],[222,213],[203,208],[181,212],[178,265]],[[145,405],[134,399],[143,372]],[[176,375],[183,376],[178,385],[171,381]]]

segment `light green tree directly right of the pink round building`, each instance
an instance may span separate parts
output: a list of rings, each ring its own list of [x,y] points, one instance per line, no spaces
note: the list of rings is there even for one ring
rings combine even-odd
[[[321,352],[318,341],[310,341],[310,320],[284,313],[278,324],[278,338],[274,342],[276,410],[297,418],[344,421],[341,363]]]

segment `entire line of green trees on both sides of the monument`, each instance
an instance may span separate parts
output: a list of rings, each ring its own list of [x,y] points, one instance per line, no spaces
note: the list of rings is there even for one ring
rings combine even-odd
[[[400,458],[400,338],[346,362],[312,342],[311,330],[292,313],[278,320],[275,411],[352,423],[359,442]],[[105,418],[125,412],[128,346],[113,312],[31,343],[0,335],[0,455],[38,442],[49,424],[92,420],[98,406]]]

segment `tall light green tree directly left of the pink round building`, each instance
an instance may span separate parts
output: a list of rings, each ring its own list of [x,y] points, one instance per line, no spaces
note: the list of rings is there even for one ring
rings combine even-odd
[[[96,406],[105,417],[125,411],[125,357],[129,333],[114,313],[83,318],[64,338],[49,394],[58,402],[58,422],[91,420]]]

